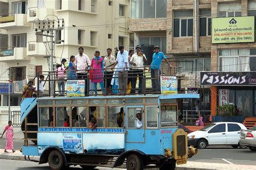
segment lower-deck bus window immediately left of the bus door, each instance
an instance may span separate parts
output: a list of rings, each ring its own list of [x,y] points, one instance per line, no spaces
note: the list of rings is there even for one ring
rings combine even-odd
[[[124,127],[124,107],[107,107],[107,127]]]

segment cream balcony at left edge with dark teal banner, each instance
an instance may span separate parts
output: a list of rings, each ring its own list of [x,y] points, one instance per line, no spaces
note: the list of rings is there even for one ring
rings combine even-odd
[[[13,62],[18,60],[30,60],[26,56],[26,47],[0,47],[0,60],[1,62]]]

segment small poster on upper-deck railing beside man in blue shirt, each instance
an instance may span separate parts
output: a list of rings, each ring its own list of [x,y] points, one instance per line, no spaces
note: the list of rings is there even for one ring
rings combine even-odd
[[[161,94],[177,94],[178,82],[175,76],[160,76]]]

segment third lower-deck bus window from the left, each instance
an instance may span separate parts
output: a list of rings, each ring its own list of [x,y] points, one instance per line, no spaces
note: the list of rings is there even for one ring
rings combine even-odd
[[[72,127],[87,127],[87,110],[86,107],[72,108]]]

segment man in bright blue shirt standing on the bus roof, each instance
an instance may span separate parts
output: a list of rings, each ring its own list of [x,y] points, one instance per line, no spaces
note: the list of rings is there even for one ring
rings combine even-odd
[[[151,71],[152,91],[157,93],[160,93],[159,70],[160,70],[163,59],[170,67],[172,67],[169,61],[164,56],[164,53],[159,52],[159,46],[154,46],[154,53],[152,57],[152,63],[150,65],[150,71]]]

